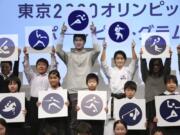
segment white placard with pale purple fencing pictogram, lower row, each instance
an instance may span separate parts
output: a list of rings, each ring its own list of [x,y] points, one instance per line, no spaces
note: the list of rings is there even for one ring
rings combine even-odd
[[[67,117],[67,90],[40,91],[38,118]]]

